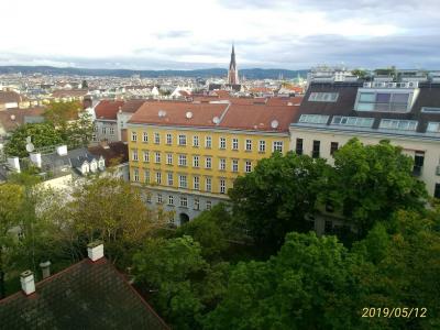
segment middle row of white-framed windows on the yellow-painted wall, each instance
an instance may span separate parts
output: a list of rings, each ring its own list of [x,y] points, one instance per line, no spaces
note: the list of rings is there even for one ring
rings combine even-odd
[[[133,148],[131,151],[132,155],[132,161],[138,162],[139,161],[139,153],[138,150]],[[193,167],[199,168],[200,167],[200,158],[201,156],[195,155],[193,156]],[[150,163],[150,152],[143,151],[142,152],[142,161],[144,163]],[[162,154],[160,152],[154,153],[154,163],[155,164],[161,164],[162,162]],[[166,154],[165,157],[165,164],[166,165],[173,165],[174,164],[174,155],[173,154]],[[177,164],[178,166],[188,166],[188,157],[185,154],[179,154],[177,157]],[[212,168],[212,157],[210,156],[205,156],[205,168],[211,169]],[[219,158],[219,169],[220,170],[227,170],[227,158]],[[231,160],[231,170],[232,172],[239,172],[239,160]],[[244,161],[244,172],[250,173],[252,170],[252,162],[251,161]]]

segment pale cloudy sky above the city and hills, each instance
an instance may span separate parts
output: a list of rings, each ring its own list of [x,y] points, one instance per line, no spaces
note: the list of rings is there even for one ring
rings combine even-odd
[[[0,65],[440,68],[439,0],[14,0]]]

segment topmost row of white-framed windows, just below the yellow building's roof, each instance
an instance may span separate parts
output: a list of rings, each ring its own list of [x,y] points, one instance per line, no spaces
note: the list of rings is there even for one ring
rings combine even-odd
[[[132,132],[131,133],[131,141],[136,142],[138,141],[138,132]],[[143,132],[142,133],[142,142],[147,143],[148,142],[148,133]],[[160,133],[154,133],[154,143],[160,144],[161,143],[161,134]],[[166,144],[172,145],[173,144],[173,135],[170,133],[166,134]],[[177,145],[186,146],[187,145],[187,135],[186,134],[178,134],[177,138]],[[198,135],[193,136],[193,146],[199,147],[200,146],[200,141]],[[212,138],[211,136],[206,136],[205,138],[205,147],[211,148],[212,147]],[[227,138],[219,138],[219,148],[220,150],[226,150],[227,148]],[[244,141],[244,150],[245,151],[252,151],[253,145],[252,145],[252,140],[245,140]],[[239,139],[233,138],[231,140],[231,150],[239,150]],[[283,141],[274,141],[272,145],[272,151],[279,151],[283,152]],[[266,141],[261,140],[258,141],[258,152],[266,152]]]

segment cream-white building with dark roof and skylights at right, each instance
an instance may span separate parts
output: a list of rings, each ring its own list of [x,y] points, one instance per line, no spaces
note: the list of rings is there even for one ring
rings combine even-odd
[[[413,174],[440,198],[440,84],[312,82],[290,125],[290,148],[331,164],[352,138],[402,146]]]

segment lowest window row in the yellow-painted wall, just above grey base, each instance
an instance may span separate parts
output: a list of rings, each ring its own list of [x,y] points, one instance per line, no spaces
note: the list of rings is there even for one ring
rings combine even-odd
[[[157,185],[167,185],[174,186],[174,177],[175,175],[172,172],[167,172],[166,176],[163,177],[162,172],[155,172],[154,184]],[[140,172],[139,168],[133,169],[133,182],[140,182]],[[151,180],[151,172],[150,169],[144,169],[144,183],[152,184]],[[183,189],[188,189],[188,175],[179,174],[177,175],[177,186]],[[200,190],[200,176],[193,176],[193,186],[191,189]],[[207,176],[205,177],[205,191],[212,193],[212,178]],[[219,179],[219,191],[220,194],[227,194],[227,179]]]

